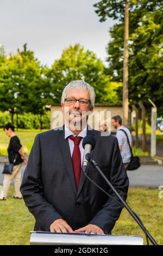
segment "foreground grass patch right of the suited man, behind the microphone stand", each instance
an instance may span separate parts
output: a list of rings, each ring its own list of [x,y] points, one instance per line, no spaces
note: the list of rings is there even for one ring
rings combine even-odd
[[[143,224],[154,237],[159,245],[163,245],[163,215],[162,201],[158,197],[159,190],[155,188],[129,188],[127,203],[130,208],[141,218]],[[140,235],[144,239],[145,235],[128,214],[126,209],[122,210],[119,220],[116,222],[112,234],[116,235]]]

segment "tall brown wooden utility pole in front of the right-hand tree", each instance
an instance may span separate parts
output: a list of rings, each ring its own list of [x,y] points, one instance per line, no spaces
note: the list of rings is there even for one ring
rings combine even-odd
[[[125,0],[124,17],[124,59],[123,59],[123,125],[128,126],[128,40],[129,40],[129,1]]]

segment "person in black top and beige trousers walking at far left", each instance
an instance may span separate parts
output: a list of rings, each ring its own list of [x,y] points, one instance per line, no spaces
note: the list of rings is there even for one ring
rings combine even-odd
[[[11,180],[15,181],[15,196],[16,199],[22,199],[20,192],[21,185],[21,166],[22,162],[27,163],[26,156],[24,155],[23,147],[20,143],[20,139],[15,134],[15,127],[13,124],[8,123],[4,126],[5,134],[10,137],[10,143],[8,147],[9,162],[14,163],[12,174],[4,174],[3,190],[0,196],[0,200],[6,200]]]

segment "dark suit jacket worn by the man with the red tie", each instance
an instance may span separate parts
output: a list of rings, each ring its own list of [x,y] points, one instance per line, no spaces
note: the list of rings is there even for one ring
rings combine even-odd
[[[96,130],[88,130],[87,135],[93,135],[96,139],[96,146],[91,152],[92,158],[126,200],[129,181],[116,137],[101,136],[101,132]],[[90,163],[87,175],[116,197]],[[36,136],[24,172],[21,193],[26,206],[35,217],[34,230],[49,231],[55,220],[63,218],[73,230],[90,223],[108,234],[122,210],[120,205],[86,179],[83,172],[77,191],[64,130],[50,130]]]

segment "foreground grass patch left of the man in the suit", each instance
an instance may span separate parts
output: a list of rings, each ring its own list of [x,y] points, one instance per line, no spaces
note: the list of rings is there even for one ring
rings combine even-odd
[[[14,187],[10,187],[6,201],[0,201],[0,245],[29,245],[29,231],[33,230],[34,218],[23,200],[13,199]]]

